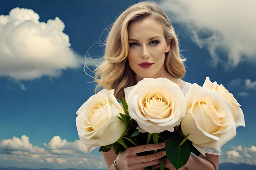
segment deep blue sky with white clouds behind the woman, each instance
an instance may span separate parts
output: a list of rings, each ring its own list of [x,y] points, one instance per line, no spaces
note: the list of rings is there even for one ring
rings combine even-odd
[[[136,2],[0,0],[1,166],[106,168],[97,149],[86,154],[78,141],[76,110],[95,87],[86,83],[93,79],[83,61],[90,47],[92,57],[103,55],[104,29]],[[209,76],[244,112],[246,127],[222,147],[220,162],[256,165],[255,2],[155,2],[168,14],[187,58],[183,80],[202,86]]]

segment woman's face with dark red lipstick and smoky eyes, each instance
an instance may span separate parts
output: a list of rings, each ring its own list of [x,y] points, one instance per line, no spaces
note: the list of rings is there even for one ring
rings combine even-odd
[[[164,77],[164,53],[170,43],[164,38],[163,26],[152,16],[132,21],[128,25],[128,62],[137,81],[143,78]]]

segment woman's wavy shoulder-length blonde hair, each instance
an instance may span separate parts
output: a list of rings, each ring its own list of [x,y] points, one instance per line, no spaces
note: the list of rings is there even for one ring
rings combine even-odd
[[[128,64],[128,24],[152,15],[162,23],[166,42],[171,48],[165,55],[165,69],[174,77],[183,77],[186,73],[183,62],[186,58],[180,57],[177,35],[168,16],[154,2],[139,2],[128,7],[117,18],[106,39],[105,61],[94,70],[94,81],[97,82],[95,93],[100,87],[108,90],[115,89],[115,97],[124,96],[124,88],[135,85],[135,73]],[[100,77],[100,78],[99,78]]]

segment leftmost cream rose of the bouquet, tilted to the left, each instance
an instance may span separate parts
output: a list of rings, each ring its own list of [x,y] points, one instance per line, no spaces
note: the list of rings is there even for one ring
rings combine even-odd
[[[113,144],[123,135],[125,125],[117,117],[119,113],[124,114],[124,110],[117,102],[114,90],[106,89],[91,96],[77,110],[76,128],[87,152]]]

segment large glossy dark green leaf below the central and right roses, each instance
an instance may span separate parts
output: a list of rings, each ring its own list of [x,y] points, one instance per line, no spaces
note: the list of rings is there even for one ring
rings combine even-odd
[[[165,143],[166,157],[178,170],[189,160],[191,153],[189,144],[185,141],[181,146],[182,137],[169,137]]]

